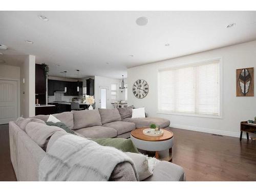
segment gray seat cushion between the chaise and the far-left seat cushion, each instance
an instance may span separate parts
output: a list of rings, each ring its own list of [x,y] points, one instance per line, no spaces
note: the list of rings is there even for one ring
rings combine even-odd
[[[117,131],[117,135],[131,132],[136,128],[135,123],[125,121],[113,121],[111,123],[105,123],[102,126],[107,126],[115,129]]]

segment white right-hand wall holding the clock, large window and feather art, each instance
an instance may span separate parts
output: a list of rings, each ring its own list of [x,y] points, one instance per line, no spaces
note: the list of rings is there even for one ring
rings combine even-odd
[[[222,119],[157,113],[159,68],[220,57],[223,61]],[[255,88],[254,97],[236,97],[236,69],[248,67],[254,67],[256,70],[256,41],[134,67],[128,69],[128,104],[133,104],[136,108],[145,106],[149,116],[169,119],[172,127],[239,137],[240,121],[253,119],[256,116]],[[149,85],[149,92],[143,99],[137,99],[132,93],[133,83],[140,78],[145,79]],[[255,80],[256,75],[254,75],[254,84]]]

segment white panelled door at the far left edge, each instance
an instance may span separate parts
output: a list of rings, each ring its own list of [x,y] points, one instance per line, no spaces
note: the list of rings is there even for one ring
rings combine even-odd
[[[17,119],[17,81],[0,80],[0,124]]]

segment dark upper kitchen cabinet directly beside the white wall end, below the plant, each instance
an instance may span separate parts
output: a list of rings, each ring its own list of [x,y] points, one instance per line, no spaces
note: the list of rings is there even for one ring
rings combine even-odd
[[[46,76],[41,65],[35,65],[35,94],[46,94]]]

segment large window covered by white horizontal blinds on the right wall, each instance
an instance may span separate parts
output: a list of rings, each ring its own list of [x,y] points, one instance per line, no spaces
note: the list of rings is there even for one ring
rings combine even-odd
[[[220,117],[220,60],[159,70],[160,113]]]

